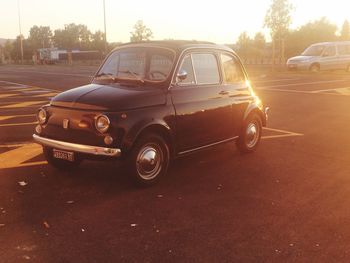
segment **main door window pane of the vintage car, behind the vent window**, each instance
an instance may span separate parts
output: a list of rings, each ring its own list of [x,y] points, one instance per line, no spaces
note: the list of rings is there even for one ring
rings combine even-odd
[[[220,83],[218,63],[214,54],[193,53],[192,60],[197,84]]]

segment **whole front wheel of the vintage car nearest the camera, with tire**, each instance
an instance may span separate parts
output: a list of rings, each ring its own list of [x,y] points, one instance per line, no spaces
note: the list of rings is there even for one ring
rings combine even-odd
[[[157,183],[169,167],[170,151],[166,141],[157,134],[140,137],[128,154],[126,165],[134,182],[140,186]]]

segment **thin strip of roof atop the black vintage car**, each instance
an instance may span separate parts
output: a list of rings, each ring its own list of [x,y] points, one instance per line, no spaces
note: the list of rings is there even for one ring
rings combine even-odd
[[[208,49],[221,49],[228,52],[233,50],[224,45],[218,45],[207,41],[196,41],[196,40],[159,40],[159,41],[142,41],[142,42],[130,42],[118,46],[118,48],[124,47],[163,47],[170,48],[175,51],[181,52],[189,48],[208,48]]]

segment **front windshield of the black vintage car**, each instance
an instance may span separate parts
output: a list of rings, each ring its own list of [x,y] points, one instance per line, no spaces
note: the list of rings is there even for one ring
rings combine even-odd
[[[114,51],[96,78],[111,80],[165,81],[174,64],[174,52],[165,48],[125,48]]]

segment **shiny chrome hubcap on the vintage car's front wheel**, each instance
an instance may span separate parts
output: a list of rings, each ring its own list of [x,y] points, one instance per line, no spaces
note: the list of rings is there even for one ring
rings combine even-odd
[[[144,180],[155,178],[162,169],[163,152],[156,144],[147,144],[137,155],[136,168],[139,176]]]

